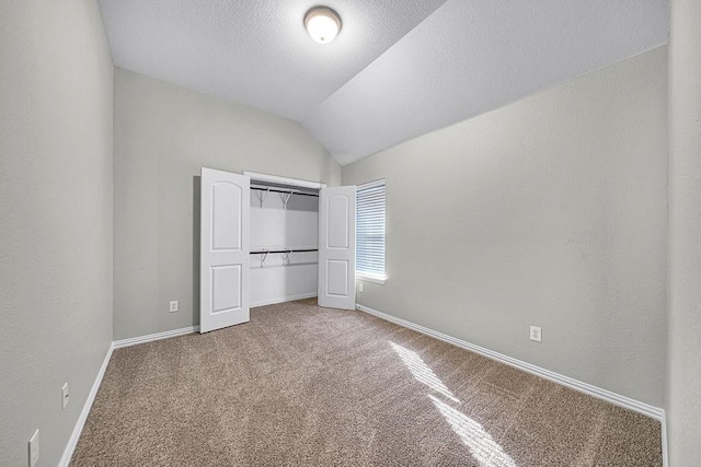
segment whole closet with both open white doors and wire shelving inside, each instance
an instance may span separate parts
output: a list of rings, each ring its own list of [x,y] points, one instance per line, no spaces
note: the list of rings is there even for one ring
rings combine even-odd
[[[355,310],[355,186],[203,167],[200,187],[200,332],[314,295]]]

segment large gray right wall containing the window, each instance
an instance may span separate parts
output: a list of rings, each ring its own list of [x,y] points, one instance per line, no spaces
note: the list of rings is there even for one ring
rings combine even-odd
[[[358,302],[662,407],[666,48],[343,167],[387,178]],[[542,327],[542,343],[528,339]]]

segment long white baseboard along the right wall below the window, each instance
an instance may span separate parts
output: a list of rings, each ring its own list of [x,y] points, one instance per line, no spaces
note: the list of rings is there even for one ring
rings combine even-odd
[[[438,340],[443,340],[448,343],[452,343],[453,346],[460,347],[466,350],[470,350],[472,352],[479,353],[481,355],[487,357],[492,360],[496,360],[502,363],[506,363],[507,365],[515,366],[525,372],[535,374],[537,376],[543,377],[545,380],[550,380],[554,383],[561,384],[563,386],[571,387],[573,389],[579,390],[582,393],[588,394],[589,396],[594,396],[599,399],[604,399],[608,402],[617,405],[619,407],[623,407],[625,409],[632,410],[637,413],[642,413],[644,416],[651,417],[655,420],[658,420],[663,424],[664,430],[664,421],[665,421],[665,410],[658,407],[651,406],[645,402],[641,402],[635,399],[631,399],[630,397],[621,396],[620,394],[612,393],[607,389],[602,389],[600,387],[593,386],[588,383],[584,383],[578,380],[574,380],[570,376],[564,376],[555,372],[551,372],[550,370],[542,369],[540,366],[532,365],[530,363],[522,362],[520,360],[514,359],[508,355],[504,355],[502,353],[495,352],[490,349],[485,349],[480,346],[475,346],[474,343],[467,342],[464,340],[457,339],[455,337],[445,335],[443,332],[435,331],[424,326],[420,326],[412,322],[407,322],[405,319],[398,318],[392,315],[388,315],[382,312],[378,312],[377,310],[372,310],[365,305],[356,304],[356,307],[361,312],[368,313],[370,315],[377,316],[378,318],[382,318],[390,323],[398,324],[402,327],[413,329],[417,332],[425,334],[426,336],[434,337]],[[666,440],[663,439],[663,443]],[[666,446],[663,445],[663,452],[666,452]]]

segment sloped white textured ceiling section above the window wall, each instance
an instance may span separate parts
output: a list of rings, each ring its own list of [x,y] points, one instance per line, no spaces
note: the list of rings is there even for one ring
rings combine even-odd
[[[343,165],[666,44],[666,0],[450,0],[317,106]]]

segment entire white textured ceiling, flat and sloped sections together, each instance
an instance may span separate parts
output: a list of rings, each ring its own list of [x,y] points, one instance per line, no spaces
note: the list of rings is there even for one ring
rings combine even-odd
[[[115,65],[300,121],[342,164],[667,43],[667,0],[100,0]]]

